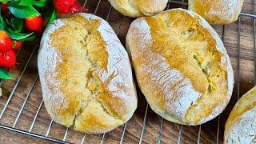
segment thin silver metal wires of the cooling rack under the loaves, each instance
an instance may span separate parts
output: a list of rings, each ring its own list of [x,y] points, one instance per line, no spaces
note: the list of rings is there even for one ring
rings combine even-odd
[[[86,6],[86,3],[88,2],[89,0],[85,0],[83,6]],[[97,3],[97,6],[96,6],[96,9],[94,10],[94,14],[97,14],[97,11],[98,11],[98,7],[100,5],[100,3],[102,2],[102,0],[98,0],[98,3]],[[169,1],[166,9],[169,9],[170,8],[170,4],[171,3],[174,3],[174,4],[178,4],[179,6],[181,6],[182,8],[186,8],[187,7],[187,1],[185,2],[184,0],[180,0],[180,1]],[[111,11],[113,10],[112,7],[110,7],[110,10],[108,11],[108,14],[106,16],[106,21],[109,20],[110,18],[110,14],[111,14]],[[255,10],[255,7],[254,7],[254,10]],[[241,33],[241,30],[240,30],[240,27],[241,27],[241,18],[242,17],[247,17],[247,18],[252,18],[253,21],[254,21],[254,83],[256,82],[256,22],[255,22],[255,18],[256,18],[256,15],[254,14],[246,14],[246,13],[241,13],[239,18],[238,18],[238,55],[237,55],[237,68],[238,68],[238,74],[237,74],[237,81],[238,81],[238,85],[237,85],[237,98],[239,98],[239,95],[240,95],[240,53],[241,53],[241,50],[240,50],[240,33]],[[124,16],[122,16],[122,18],[124,18]],[[119,33],[119,30],[120,30],[120,27],[122,26],[122,20],[120,22],[120,24],[118,25],[118,30],[117,30],[117,34]],[[225,35],[225,26],[222,26],[222,41],[224,42],[224,35]],[[225,43],[225,42],[224,42]],[[18,77],[18,80],[17,82],[15,83],[14,85],[14,89],[11,91],[10,93],[10,96],[8,97],[8,99],[6,100],[6,103],[0,113],[0,120],[3,116],[3,114],[5,114],[5,111],[6,111],[6,108],[9,106],[9,103],[10,103],[10,100],[14,97],[14,92],[15,90],[17,89],[19,83],[21,82],[21,79],[22,79],[22,76],[27,68],[27,66],[29,65],[30,63],[30,60],[31,58],[33,57],[36,49],[38,48],[38,46],[35,46],[34,47],[34,50],[31,52],[30,54],[30,57],[28,58],[27,62],[26,62],[26,65],[24,66],[23,70],[22,70],[22,73],[20,74],[20,76]],[[33,83],[33,86],[31,86],[28,94],[26,95],[26,98],[24,99],[23,103],[22,103],[22,106],[20,108],[20,110],[18,111],[18,115],[17,117],[15,118],[14,120],[14,123],[12,126],[5,126],[5,125],[2,125],[0,123],[0,128],[2,129],[6,129],[6,130],[12,130],[14,132],[18,132],[18,133],[21,133],[21,134],[26,134],[26,135],[29,135],[29,136],[32,136],[32,137],[36,137],[36,138],[42,138],[42,139],[46,139],[46,140],[49,140],[51,142],[58,142],[58,143],[69,143],[69,142],[66,142],[66,137],[67,137],[67,134],[69,133],[69,128],[66,128],[66,131],[65,131],[65,134],[63,136],[62,139],[57,139],[57,138],[50,138],[49,137],[49,134],[50,134],[50,130],[51,130],[51,127],[53,125],[53,120],[50,121],[50,124],[46,130],[46,134],[42,135],[42,134],[36,134],[36,133],[33,133],[32,130],[34,128],[34,124],[38,118],[38,114],[39,114],[39,111],[42,109],[42,101],[40,103],[38,103],[38,110],[36,112],[36,114],[34,115],[34,118],[33,118],[33,121],[31,122],[30,124],[30,129],[28,131],[24,131],[24,130],[19,130],[18,128],[16,128],[17,126],[17,122],[22,114],[22,111],[24,110],[24,107],[26,106],[26,102],[28,100],[28,98],[30,97],[30,94],[31,94],[31,91],[34,89],[34,86],[36,84],[36,82],[38,82],[38,74],[36,76],[36,78],[34,79],[34,83]],[[0,81],[0,86],[2,86],[2,81]],[[147,118],[147,114],[148,114],[148,110],[149,110],[149,105],[147,104],[146,105],[146,110],[145,110],[145,114],[144,114],[144,118],[143,118],[143,122],[142,122],[142,130],[141,130],[141,134],[140,134],[140,137],[139,137],[139,143],[142,143],[142,140],[143,140],[143,135],[145,133],[145,127],[146,127],[146,118]],[[221,116],[218,116],[218,130],[217,130],[217,135],[216,135],[216,143],[218,143],[218,138],[219,138],[219,122],[220,122],[220,117]],[[162,138],[162,134],[163,134],[163,118],[161,119],[161,122],[160,122],[160,128],[159,128],[159,134],[158,134],[158,139],[157,139],[157,143],[161,143],[161,138]],[[197,138],[197,142],[200,143],[200,140],[201,140],[201,130],[202,130],[202,127],[199,126],[199,129],[198,129],[198,138]],[[124,135],[126,134],[126,123],[124,124],[123,126],[123,129],[122,129],[122,135],[121,135],[121,138],[120,138],[120,142],[119,143],[122,143],[123,142],[123,138],[124,138]],[[100,143],[103,143],[104,142],[104,138],[105,138],[105,134],[102,134],[102,138],[101,138],[101,142]],[[181,142],[181,138],[182,138],[182,126],[179,126],[179,130],[178,130],[178,138],[177,138],[177,143],[180,143]],[[86,134],[83,135],[82,139],[81,139],[81,143],[84,143],[86,141]]]

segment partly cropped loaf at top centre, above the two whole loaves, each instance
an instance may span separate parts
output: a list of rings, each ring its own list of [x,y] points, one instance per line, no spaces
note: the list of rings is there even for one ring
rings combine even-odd
[[[137,18],[158,14],[166,8],[168,0],[109,0],[109,2],[121,14]]]

